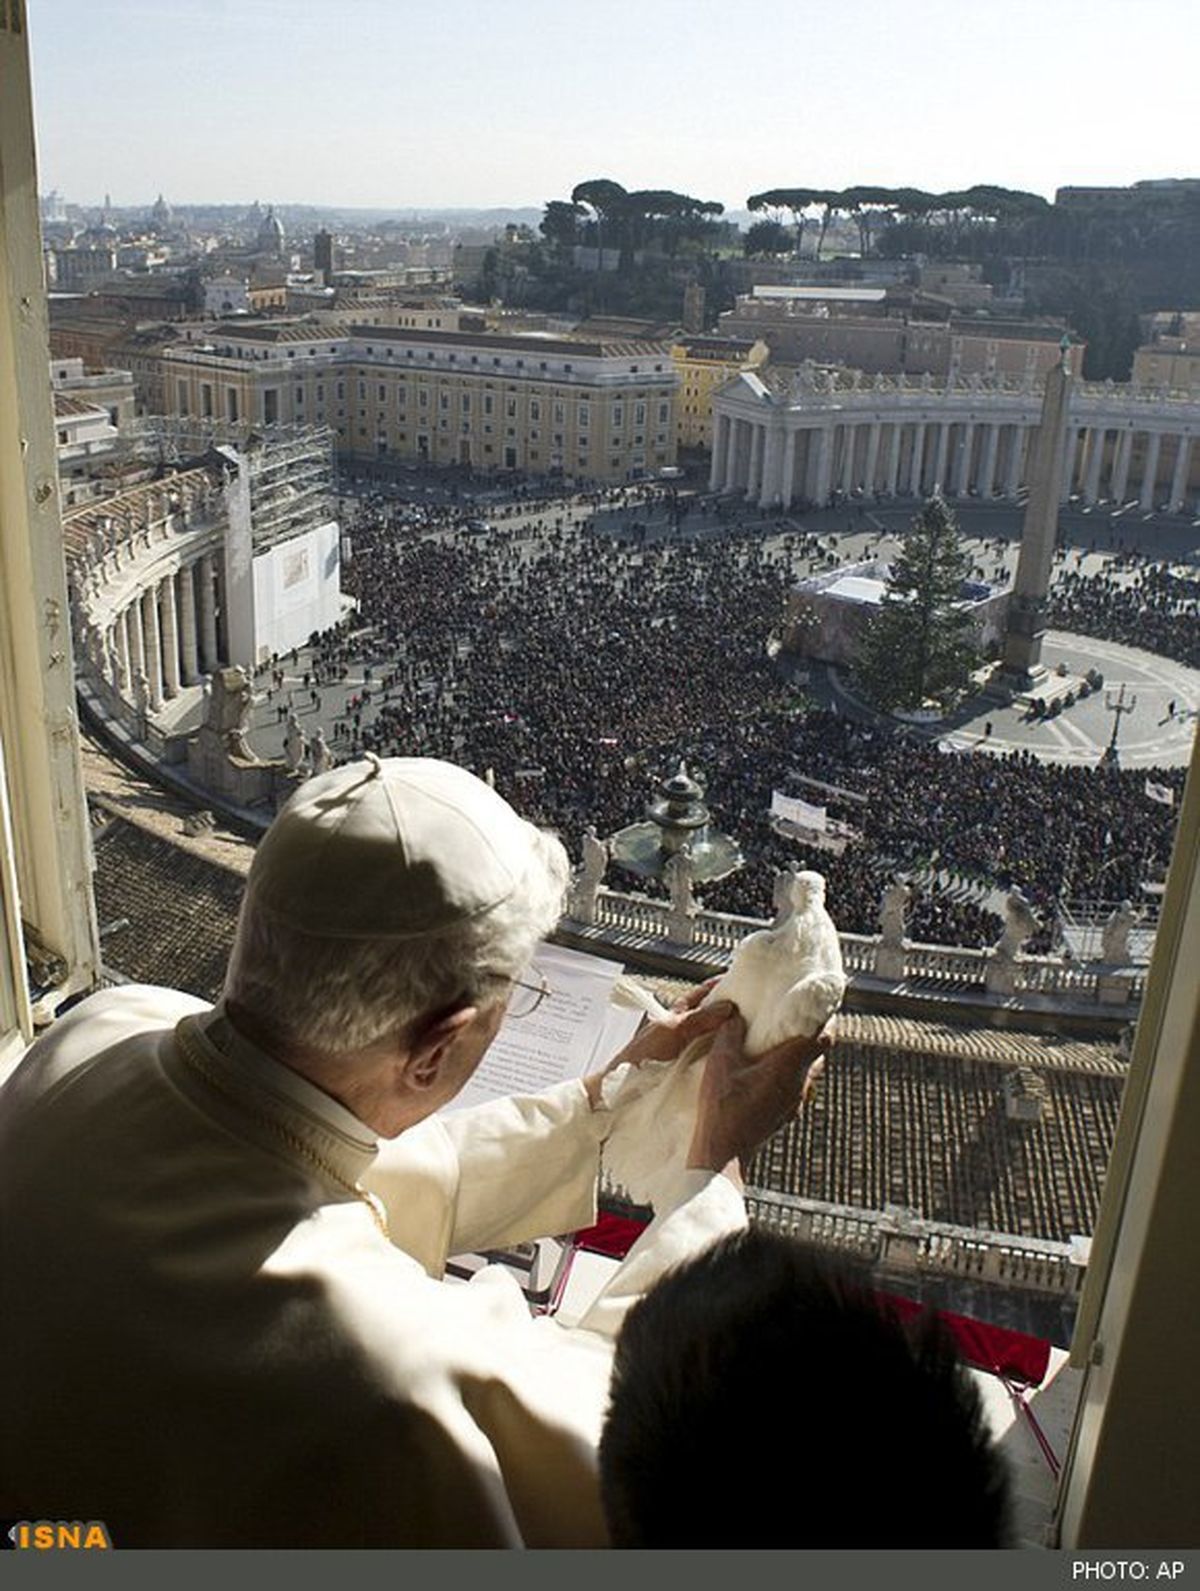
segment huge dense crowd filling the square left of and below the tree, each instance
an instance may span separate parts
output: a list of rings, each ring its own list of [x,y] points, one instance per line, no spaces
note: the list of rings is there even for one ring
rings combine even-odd
[[[702,889],[703,904],[769,915],[775,869],[801,861],[826,873],[848,932],[877,931],[898,875],[912,888],[909,936],[963,945],[998,939],[998,889],[1027,894],[1050,943],[1060,897],[1138,899],[1162,875],[1175,813],[1147,799],[1144,770],[945,753],[815,710],[767,643],[793,578],[836,554],[775,527],[769,538],[750,525],[713,539],[597,535],[597,511],[629,506],[627,490],[514,498],[489,504],[487,520],[447,503],[419,523],[404,504],[360,501],[345,571],[360,613],[353,630],[318,640],[314,662],[318,683],[364,670],[334,749],[492,770],[576,848],[587,824],[611,834],[638,821],[686,760],[746,858]],[[813,794],[813,778],[863,800]],[[1151,778],[1178,797],[1182,770]],[[834,854],[781,837],[769,818],[777,789],[828,802],[855,838]],[[621,885],[618,869],[608,881]]]

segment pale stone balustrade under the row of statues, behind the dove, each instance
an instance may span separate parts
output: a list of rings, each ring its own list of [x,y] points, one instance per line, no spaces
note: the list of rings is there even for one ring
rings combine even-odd
[[[622,951],[643,950],[675,956],[688,967],[719,971],[742,939],[767,924],[750,916],[681,912],[667,901],[598,888],[589,901],[576,899],[563,929]],[[996,950],[961,945],[886,945],[879,936],[840,934],[842,961],[851,982],[886,985],[910,993],[944,991],[964,996],[1049,999],[1069,1004],[1133,1006],[1141,999],[1144,967],[1111,967],[1097,961],[1058,956],[1004,956]]]

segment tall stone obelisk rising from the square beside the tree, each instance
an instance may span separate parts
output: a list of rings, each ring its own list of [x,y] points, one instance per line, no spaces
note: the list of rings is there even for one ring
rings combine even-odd
[[[1060,347],[1058,363],[1046,375],[1042,417],[1033,444],[1030,498],[1020,531],[1017,578],[1012,582],[1004,627],[1001,671],[1004,684],[1017,692],[1030,690],[1046,673],[1041,662],[1042,638],[1066,463],[1066,409],[1071,398],[1071,339],[1066,334]]]

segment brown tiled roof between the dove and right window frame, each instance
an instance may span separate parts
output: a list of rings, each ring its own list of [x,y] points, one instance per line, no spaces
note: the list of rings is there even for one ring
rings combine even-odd
[[[1042,1083],[1038,1122],[1007,1117],[1017,1066]],[[1122,1085],[1111,1044],[845,1015],[813,1101],[746,1181],[1066,1243],[1095,1227]]]

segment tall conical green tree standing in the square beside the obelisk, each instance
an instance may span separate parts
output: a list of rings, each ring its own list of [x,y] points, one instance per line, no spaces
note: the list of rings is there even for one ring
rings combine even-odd
[[[949,702],[977,663],[971,619],[956,606],[971,560],[945,503],[931,498],[904,535],[888,587],[858,648],[855,678],[877,706]]]

